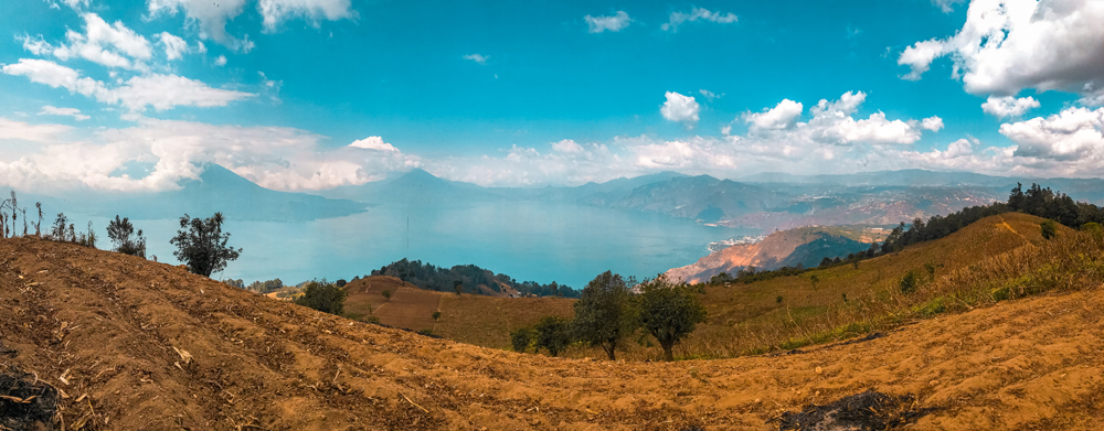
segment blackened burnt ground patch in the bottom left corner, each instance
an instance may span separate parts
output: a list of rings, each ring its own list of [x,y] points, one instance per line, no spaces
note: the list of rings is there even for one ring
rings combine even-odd
[[[0,430],[46,430],[57,413],[57,389],[15,367],[0,368]]]

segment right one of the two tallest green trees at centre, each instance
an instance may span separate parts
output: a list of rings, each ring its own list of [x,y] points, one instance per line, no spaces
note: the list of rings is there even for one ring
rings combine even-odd
[[[664,358],[675,360],[675,344],[705,322],[705,309],[684,282],[660,274],[641,283],[640,323],[664,347]]]

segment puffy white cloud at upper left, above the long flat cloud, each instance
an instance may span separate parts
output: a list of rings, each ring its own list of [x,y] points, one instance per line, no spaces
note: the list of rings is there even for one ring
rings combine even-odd
[[[53,55],[62,61],[81,57],[107,67],[128,69],[145,69],[142,63],[152,54],[152,46],[142,35],[128,29],[121,21],[108,24],[99,15],[86,12],[84,33],[65,32],[68,44],[61,44],[53,50]],[[32,51],[33,52],[33,51]],[[127,58],[130,57],[130,58]]]

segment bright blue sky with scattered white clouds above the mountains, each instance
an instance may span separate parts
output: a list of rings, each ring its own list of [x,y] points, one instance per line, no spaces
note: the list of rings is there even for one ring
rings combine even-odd
[[[0,183],[29,188],[167,190],[202,163],[309,191],[412,168],[540,186],[664,170],[1101,176],[1104,160],[1100,1],[6,12]]]

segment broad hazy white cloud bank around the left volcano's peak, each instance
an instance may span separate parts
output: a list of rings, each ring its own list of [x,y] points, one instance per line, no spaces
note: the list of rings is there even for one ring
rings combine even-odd
[[[15,129],[10,123],[0,118],[0,139],[54,142],[53,136],[68,130],[52,126],[28,132],[22,131],[25,125]],[[418,158],[397,150],[327,149],[319,146],[321,139],[293,128],[141,119],[131,128],[40,146],[15,160],[0,161],[0,183],[32,190],[164,191],[178,188],[183,180],[198,179],[203,164],[215,163],[258,185],[298,191],[363,184],[382,180],[388,172],[421,165]],[[112,175],[132,162],[153,168],[145,177]]]

